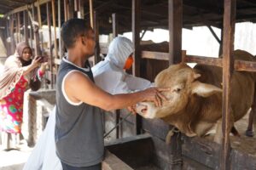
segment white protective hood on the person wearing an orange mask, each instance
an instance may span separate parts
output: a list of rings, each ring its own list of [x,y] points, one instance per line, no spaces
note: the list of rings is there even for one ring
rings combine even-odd
[[[126,59],[133,51],[134,48],[130,39],[126,37],[115,37],[109,44],[108,54],[105,59],[119,67],[119,69],[123,69]]]

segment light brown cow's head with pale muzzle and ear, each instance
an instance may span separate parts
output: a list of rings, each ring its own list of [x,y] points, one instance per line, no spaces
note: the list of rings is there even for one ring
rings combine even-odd
[[[154,103],[142,102],[137,105],[137,113],[145,118],[161,118],[183,111],[188,105],[189,98],[194,94],[208,97],[222,92],[221,88],[199,82],[200,74],[185,64],[171,65],[161,71],[154,82],[158,88],[171,88],[164,92],[167,101],[161,107],[155,107]]]

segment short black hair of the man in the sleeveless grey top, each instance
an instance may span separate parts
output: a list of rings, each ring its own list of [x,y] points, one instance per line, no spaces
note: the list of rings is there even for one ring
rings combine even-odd
[[[61,38],[64,42],[65,48],[73,48],[77,37],[88,35],[88,31],[92,28],[87,25],[86,20],[71,19],[67,20],[61,27]]]

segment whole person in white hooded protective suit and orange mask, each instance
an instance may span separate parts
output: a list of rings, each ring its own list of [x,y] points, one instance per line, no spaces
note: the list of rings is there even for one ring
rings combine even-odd
[[[106,58],[91,68],[96,85],[109,94],[127,94],[150,87],[148,80],[125,73],[131,68],[133,51],[131,40],[115,37]],[[23,170],[62,170],[55,154],[55,108]]]

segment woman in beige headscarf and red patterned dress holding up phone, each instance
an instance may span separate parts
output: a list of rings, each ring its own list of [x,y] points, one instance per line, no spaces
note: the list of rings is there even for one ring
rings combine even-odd
[[[27,88],[38,90],[44,76],[45,66],[42,57],[32,59],[32,49],[26,42],[17,44],[15,54],[5,61],[0,76],[0,128],[3,149],[9,149],[9,134],[19,141],[23,118],[23,96]],[[37,70],[38,66],[40,69]]]

